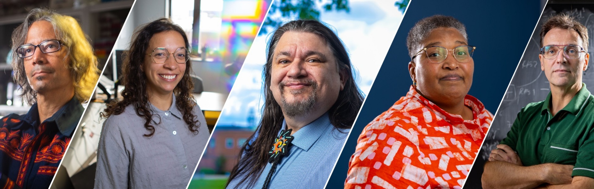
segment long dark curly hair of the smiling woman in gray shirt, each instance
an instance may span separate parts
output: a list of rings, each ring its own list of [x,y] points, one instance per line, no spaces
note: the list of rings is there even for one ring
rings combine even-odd
[[[114,100],[107,104],[107,108],[101,113],[102,117],[109,117],[111,115],[119,115],[124,113],[124,110],[128,105],[134,105],[136,114],[140,117],[144,117],[144,128],[149,131],[148,134],[144,134],[146,137],[151,137],[154,134],[154,126],[150,124],[153,120],[153,116],[159,116],[153,114],[150,110],[149,94],[147,92],[147,76],[144,74],[143,63],[146,56],[147,48],[149,47],[149,41],[156,33],[164,31],[177,31],[184,37],[186,49],[191,49],[188,43],[188,37],[184,33],[179,25],[173,24],[169,18],[161,18],[151,23],[141,25],[136,29],[130,42],[130,48],[122,54],[122,85],[124,85],[124,91],[122,91],[123,100]],[[196,101],[190,94],[194,88],[192,78],[190,76],[191,60],[188,60],[186,64],[186,70],[179,84],[173,89],[173,95],[176,98],[176,107],[184,115],[184,121],[188,124],[188,129],[194,134],[198,134],[198,128],[200,128],[200,122],[198,116],[192,113]],[[159,117],[160,118],[160,117]],[[160,122],[160,121],[159,121]],[[158,123],[157,123],[158,124]]]

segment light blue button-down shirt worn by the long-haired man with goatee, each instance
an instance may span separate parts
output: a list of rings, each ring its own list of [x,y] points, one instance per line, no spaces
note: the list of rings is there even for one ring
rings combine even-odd
[[[349,131],[336,129],[324,114],[293,133],[289,154],[277,165],[268,188],[324,188]],[[266,165],[254,188],[262,188],[271,167]],[[238,183],[241,179],[235,178],[227,188],[247,188],[248,182]]]

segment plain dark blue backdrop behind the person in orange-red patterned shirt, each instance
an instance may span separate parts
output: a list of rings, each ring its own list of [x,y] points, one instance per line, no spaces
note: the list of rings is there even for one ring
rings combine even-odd
[[[409,90],[412,81],[407,69],[410,57],[406,36],[417,21],[441,14],[457,18],[466,25],[468,43],[476,46],[473,55],[475,72],[469,94],[482,101],[485,108],[495,114],[541,11],[541,1],[538,0],[413,0],[340,154],[327,188],[344,185],[350,156],[355,152],[356,140],[366,124],[388,110]]]

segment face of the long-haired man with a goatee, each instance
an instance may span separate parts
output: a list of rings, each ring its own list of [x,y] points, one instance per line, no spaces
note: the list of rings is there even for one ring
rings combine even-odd
[[[274,49],[270,90],[285,116],[330,110],[345,79],[326,41],[317,34],[287,31]]]

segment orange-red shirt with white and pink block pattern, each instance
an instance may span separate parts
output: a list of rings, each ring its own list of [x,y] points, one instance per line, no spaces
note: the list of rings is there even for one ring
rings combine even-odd
[[[461,188],[493,114],[466,95],[473,119],[449,114],[410,87],[369,123],[350,157],[345,188]]]

